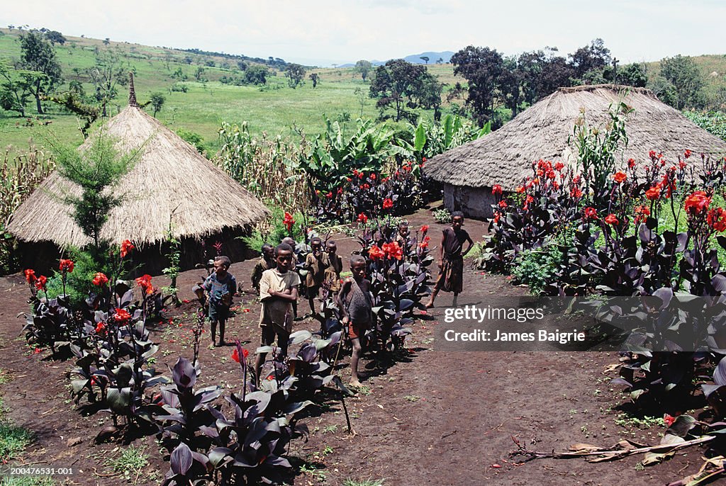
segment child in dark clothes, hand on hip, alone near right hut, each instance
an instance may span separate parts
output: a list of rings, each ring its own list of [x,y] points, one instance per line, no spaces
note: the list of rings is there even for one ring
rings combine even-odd
[[[433,300],[439,294],[439,290],[444,292],[454,292],[453,307],[457,305],[457,297],[462,291],[464,282],[464,257],[471,250],[474,242],[461,227],[464,226],[464,214],[461,211],[452,213],[452,227],[446,228],[444,234],[441,235],[441,244],[439,245],[439,279],[433,287],[431,298],[426,304],[427,308],[433,307]],[[464,243],[468,242],[466,250]]]

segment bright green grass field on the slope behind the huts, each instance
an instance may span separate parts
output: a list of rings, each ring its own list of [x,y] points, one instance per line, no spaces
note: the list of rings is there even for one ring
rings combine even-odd
[[[0,36],[0,58],[20,57],[18,30],[0,31],[4,32]],[[339,116],[350,118],[351,124],[361,115],[364,118],[378,116],[375,99],[367,96],[370,84],[362,81],[352,68],[310,69],[309,73],[319,75],[319,83],[314,89],[308,78],[303,86],[290,88],[284,74],[274,69],[271,71],[276,75],[268,78],[266,86],[232,86],[219,82],[223,75],[229,76],[235,71],[238,73],[236,63],[230,59],[113,41],[105,46],[103,41],[89,38],[68,38],[65,45],[56,46],[66,82],[85,81],[79,73],[94,65],[96,49],[116,49],[124,70],[136,72],[134,85],[139,102],[146,102],[153,92],[162,92],[166,102],[157,114],[158,119],[175,131],[184,129],[200,134],[210,152],[219,148],[217,131],[223,121],[246,121],[253,136],[259,137],[264,132],[268,136],[280,135],[285,138],[297,137],[295,129],[302,130],[308,136],[324,130],[323,115],[333,119]],[[187,64],[184,57],[191,57],[192,64]],[[204,65],[208,61],[215,62],[216,67]],[[219,67],[224,62],[231,64],[234,69]],[[203,83],[195,80],[199,65],[203,65],[203,77],[208,80]],[[188,77],[184,81],[188,88],[186,93],[171,91],[171,86],[178,82],[172,74],[179,68]],[[464,81],[455,80],[451,65],[431,65],[429,69],[444,83]],[[87,92],[92,89],[90,83],[84,83],[83,86]],[[356,94],[356,88],[363,91],[362,100]],[[127,104],[128,88],[118,86],[118,92],[110,115]],[[76,116],[69,115],[52,103],[46,103],[45,106],[48,114],[42,116],[41,120],[35,120],[35,104],[28,104],[26,115],[33,118],[30,122],[33,126],[28,126],[24,118],[15,116],[15,112],[0,112],[0,147],[12,146],[13,153],[25,152],[29,139],[42,146],[44,139],[49,136],[70,144],[81,144]],[[432,115],[431,112],[424,114],[429,117]],[[42,125],[47,121],[51,123]]]

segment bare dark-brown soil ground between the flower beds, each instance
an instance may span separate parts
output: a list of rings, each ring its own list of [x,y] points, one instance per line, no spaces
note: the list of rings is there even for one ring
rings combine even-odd
[[[412,228],[431,225],[431,235],[444,226],[433,223],[422,210],[409,217]],[[483,223],[469,220],[465,228],[481,239]],[[357,248],[353,239],[336,238],[340,255]],[[436,241],[432,241],[436,243]],[[232,265],[237,280],[249,288],[254,265],[248,260]],[[193,298],[190,287],[203,271],[188,271],[179,279],[180,297]],[[163,285],[163,276],[155,284]],[[483,275],[468,269],[459,304],[476,304],[497,295],[523,295],[501,276]],[[21,275],[0,279],[0,368],[11,380],[0,385],[7,415],[15,424],[35,434],[35,442],[15,464],[73,467],[73,475],[57,477],[73,485],[125,484],[108,461],[118,457],[126,443],[96,444],[94,436],[110,422],[104,413],[82,416],[70,402],[65,373],[73,361],[54,362],[49,352],[33,353],[19,337],[28,309],[28,289]],[[619,406],[627,403],[620,387],[608,382],[606,373],[618,362],[616,353],[565,352],[469,352],[436,350],[434,329],[452,295],[442,293],[437,307],[422,315],[407,339],[409,354],[399,356],[388,368],[375,368],[370,358],[362,361],[369,376],[365,388],[346,400],[354,434],[348,434],[337,395],[321,395],[322,406],[301,419],[311,431],[309,440],[293,441],[291,462],[296,466],[295,485],[340,485],[345,479],[385,479],[386,485],[662,485],[693,474],[703,450],[684,450],[665,464],[643,468],[642,457],[613,463],[590,464],[582,459],[542,459],[515,465],[509,453],[514,440],[531,450],[565,450],[576,442],[614,445],[627,437],[656,444],[662,427],[638,429],[615,423]],[[237,297],[237,316],[228,324],[227,340],[239,337],[258,342],[259,306],[252,295]],[[300,310],[307,310],[305,302]],[[249,309],[245,312],[245,309]],[[192,355],[194,302],[170,308],[166,321],[152,335],[160,343],[158,366],[172,366],[179,355]],[[315,321],[295,323],[295,329],[311,329]],[[206,341],[206,339],[205,339]],[[200,386],[221,384],[239,390],[239,367],[229,355],[232,347],[208,349],[200,355],[203,366]],[[344,361],[347,363],[346,361]],[[343,369],[343,376],[348,369]],[[672,411],[674,413],[676,411]],[[78,442],[80,440],[80,442]],[[74,442],[76,445],[70,445]],[[150,465],[136,484],[157,484],[168,470],[154,436],[140,437]]]

